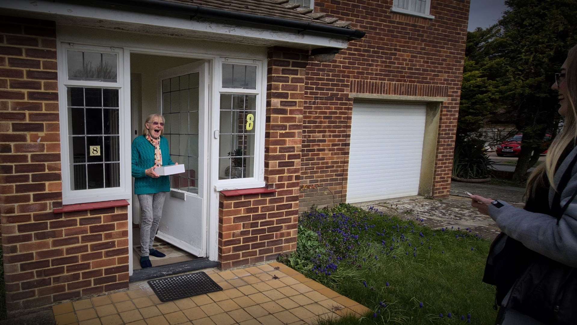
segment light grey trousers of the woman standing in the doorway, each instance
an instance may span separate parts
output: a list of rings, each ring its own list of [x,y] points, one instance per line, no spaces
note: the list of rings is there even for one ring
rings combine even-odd
[[[158,223],[162,217],[162,206],[166,193],[140,194],[140,256],[148,256],[148,249],[152,249]]]

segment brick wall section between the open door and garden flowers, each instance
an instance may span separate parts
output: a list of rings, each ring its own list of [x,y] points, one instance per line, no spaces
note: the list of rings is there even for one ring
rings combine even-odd
[[[268,51],[264,177],[276,193],[220,195],[219,260],[230,268],[297,249],[306,51]]]

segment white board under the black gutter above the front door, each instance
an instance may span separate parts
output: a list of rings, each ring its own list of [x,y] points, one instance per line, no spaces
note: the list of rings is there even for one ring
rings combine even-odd
[[[248,27],[223,21],[190,20],[182,17],[127,12],[111,8],[83,6],[46,0],[3,0],[0,9],[7,16],[25,16],[54,20],[58,25],[76,25],[166,35],[174,38],[211,40],[254,46],[286,46],[294,48],[346,48],[347,40],[321,34],[297,33],[282,28]]]

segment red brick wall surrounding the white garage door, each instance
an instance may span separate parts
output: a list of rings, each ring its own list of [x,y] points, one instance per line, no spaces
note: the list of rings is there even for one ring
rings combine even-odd
[[[441,106],[433,196],[449,195],[470,1],[431,0],[433,20],[392,13],[392,2],[314,1],[316,12],[352,21],[366,36],[331,62],[310,62],[306,69],[302,210],[346,200],[350,92],[448,97]]]

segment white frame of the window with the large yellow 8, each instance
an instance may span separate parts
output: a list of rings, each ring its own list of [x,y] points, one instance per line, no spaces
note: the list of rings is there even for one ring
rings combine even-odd
[[[265,186],[264,182],[264,134],[265,134],[265,119],[266,119],[266,66],[262,60],[258,59],[235,59],[219,57],[216,58],[216,74],[215,74],[215,95],[213,106],[213,130],[215,134],[213,137],[212,147],[212,170],[213,170],[213,184],[215,190],[227,189],[246,189],[246,188],[261,188]],[[256,66],[256,89],[238,89],[238,88],[224,88],[222,86],[222,65],[223,63],[241,64]],[[258,128],[254,133],[254,170],[253,177],[233,178],[230,180],[219,180],[219,146],[218,140],[220,133],[220,95],[221,94],[244,94],[256,95],[256,117],[255,127]]]

